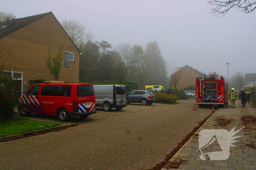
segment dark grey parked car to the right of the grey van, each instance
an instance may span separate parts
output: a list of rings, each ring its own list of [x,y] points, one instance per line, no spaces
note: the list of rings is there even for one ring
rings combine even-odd
[[[127,93],[127,104],[141,103],[151,105],[155,102],[155,95],[149,90],[133,90]]]

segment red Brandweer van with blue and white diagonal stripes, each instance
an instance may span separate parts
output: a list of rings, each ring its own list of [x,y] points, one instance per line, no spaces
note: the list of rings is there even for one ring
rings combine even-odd
[[[29,116],[31,112],[57,115],[60,121],[70,116],[87,118],[97,113],[95,94],[91,84],[45,82],[35,84],[19,97],[19,114]]]

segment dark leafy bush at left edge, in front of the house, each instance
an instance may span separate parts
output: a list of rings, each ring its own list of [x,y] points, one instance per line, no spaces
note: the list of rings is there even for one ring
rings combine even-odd
[[[15,80],[8,76],[8,67],[6,65],[7,60],[10,59],[11,54],[3,52],[3,48],[0,48],[0,120],[14,118],[14,108],[17,106],[17,96],[15,91],[18,91]]]

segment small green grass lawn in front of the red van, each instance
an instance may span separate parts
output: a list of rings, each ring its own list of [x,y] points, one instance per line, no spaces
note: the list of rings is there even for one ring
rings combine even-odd
[[[20,134],[26,131],[46,129],[49,127],[60,126],[59,123],[41,122],[21,117],[13,120],[0,120],[0,137]]]

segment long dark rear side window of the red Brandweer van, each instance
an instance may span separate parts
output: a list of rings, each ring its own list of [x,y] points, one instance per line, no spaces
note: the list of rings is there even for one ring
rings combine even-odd
[[[70,96],[71,86],[44,85],[42,87],[42,96]]]

